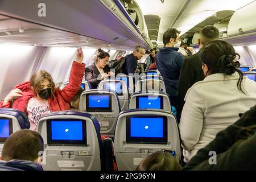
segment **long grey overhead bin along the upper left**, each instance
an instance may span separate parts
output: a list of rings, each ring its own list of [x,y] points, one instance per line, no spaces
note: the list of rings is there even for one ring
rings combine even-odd
[[[139,34],[134,31],[130,22],[121,20],[120,17],[125,16],[123,13],[117,16],[103,1],[23,0],[22,3],[17,3],[16,0],[1,0],[0,15],[103,40],[109,44],[128,47],[140,44],[150,47],[151,42],[148,43],[143,38],[143,32]],[[42,8],[40,3],[46,5],[46,16],[38,14]]]

